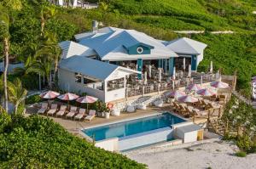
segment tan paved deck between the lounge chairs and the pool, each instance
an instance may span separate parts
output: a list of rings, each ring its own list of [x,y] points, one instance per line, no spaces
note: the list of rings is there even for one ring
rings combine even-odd
[[[26,115],[31,115],[32,113],[37,112],[37,109],[33,107],[29,107],[26,110],[27,110]],[[65,118],[57,118],[55,116],[46,116],[46,115],[41,115],[41,116],[49,117],[53,121],[59,123],[65,129],[67,129],[68,132],[78,135],[79,129],[81,128],[95,127],[95,126],[106,125],[108,123],[114,123],[118,121],[127,121],[131,119],[137,119],[139,117],[155,115],[163,111],[172,111],[170,108],[170,104],[164,104],[162,108],[147,107],[147,110],[137,110],[134,113],[121,113],[119,116],[110,115],[109,119],[105,119],[103,117],[95,117],[92,121],[73,121]],[[206,121],[207,121],[207,117],[206,118],[201,117],[201,118],[195,119],[195,123],[203,123]]]

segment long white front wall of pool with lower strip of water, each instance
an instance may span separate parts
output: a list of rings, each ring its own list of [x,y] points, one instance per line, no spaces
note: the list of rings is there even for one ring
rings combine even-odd
[[[119,138],[119,150],[134,149],[148,144],[156,144],[172,139],[172,128],[164,127],[150,132],[143,132]]]

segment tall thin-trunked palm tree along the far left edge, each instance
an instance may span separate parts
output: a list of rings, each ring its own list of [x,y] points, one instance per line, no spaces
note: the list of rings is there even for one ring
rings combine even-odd
[[[0,2],[0,40],[3,42],[4,70],[4,108],[8,112],[7,70],[9,65],[9,25],[11,11],[20,10],[20,0],[2,0]]]

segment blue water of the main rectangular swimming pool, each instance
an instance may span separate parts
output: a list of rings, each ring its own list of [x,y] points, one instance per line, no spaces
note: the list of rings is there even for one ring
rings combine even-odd
[[[184,120],[170,113],[163,113],[161,115],[144,117],[137,120],[124,121],[102,127],[93,127],[85,129],[83,132],[90,138],[95,138],[96,141],[99,141],[106,138],[122,138],[163,127],[171,127],[173,124],[180,122],[184,122]]]

